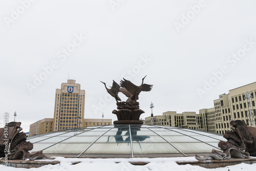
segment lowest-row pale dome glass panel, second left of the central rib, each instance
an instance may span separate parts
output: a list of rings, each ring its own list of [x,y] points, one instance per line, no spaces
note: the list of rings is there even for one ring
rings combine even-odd
[[[45,154],[80,154],[91,143],[58,143],[43,151]],[[77,156],[78,156],[77,155]]]

